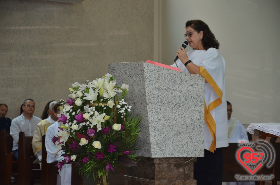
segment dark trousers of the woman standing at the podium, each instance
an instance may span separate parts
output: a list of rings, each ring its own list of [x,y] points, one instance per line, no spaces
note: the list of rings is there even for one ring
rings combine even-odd
[[[221,185],[223,173],[223,152],[221,148],[216,151],[204,149],[204,157],[197,157],[194,163],[194,179],[197,185]]]

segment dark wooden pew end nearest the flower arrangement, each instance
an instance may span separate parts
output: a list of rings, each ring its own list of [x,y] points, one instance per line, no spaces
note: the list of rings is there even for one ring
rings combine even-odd
[[[42,169],[41,169],[41,185],[55,185],[57,182],[58,163],[47,163],[47,150],[45,145],[46,135],[42,136]]]

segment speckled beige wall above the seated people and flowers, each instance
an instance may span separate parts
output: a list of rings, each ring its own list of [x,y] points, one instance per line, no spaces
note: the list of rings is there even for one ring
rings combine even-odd
[[[26,98],[34,115],[66,99],[74,82],[108,72],[108,63],[153,60],[154,2],[0,1],[0,103],[19,115]]]

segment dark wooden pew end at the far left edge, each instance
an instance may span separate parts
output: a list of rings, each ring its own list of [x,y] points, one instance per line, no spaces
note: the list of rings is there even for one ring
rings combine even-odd
[[[13,137],[6,129],[0,131],[0,175],[3,184],[11,184],[12,173],[17,172],[17,161],[13,160]]]

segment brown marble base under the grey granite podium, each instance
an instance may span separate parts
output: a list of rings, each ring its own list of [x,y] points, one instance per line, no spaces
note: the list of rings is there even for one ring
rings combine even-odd
[[[127,170],[125,185],[195,185],[193,163],[196,157],[140,157],[135,169]]]

